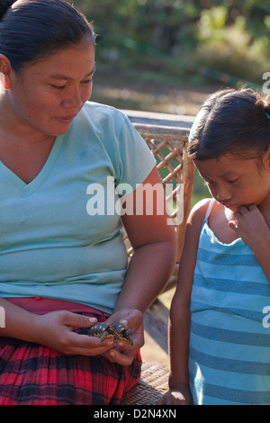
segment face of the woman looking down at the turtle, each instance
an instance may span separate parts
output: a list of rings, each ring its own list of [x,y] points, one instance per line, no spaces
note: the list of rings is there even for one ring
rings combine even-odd
[[[59,50],[18,73],[12,71],[7,106],[18,128],[51,136],[66,133],[91,95],[93,75],[90,41]]]

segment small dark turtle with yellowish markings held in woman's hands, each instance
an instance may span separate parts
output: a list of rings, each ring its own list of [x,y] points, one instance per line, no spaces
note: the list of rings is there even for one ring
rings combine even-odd
[[[92,328],[89,329],[88,335],[90,337],[100,338],[100,342],[103,342],[104,339],[114,338],[115,340],[125,340],[133,345],[133,341],[130,338],[133,330],[128,328],[126,325],[120,321],[114,323],[96,323]]]

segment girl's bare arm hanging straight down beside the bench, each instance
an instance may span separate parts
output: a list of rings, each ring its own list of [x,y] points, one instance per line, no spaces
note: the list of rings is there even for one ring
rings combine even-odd
[[[188,377],[190,301],[199,236],[208,204],[209,200],[199,202],[191,211],[186,225],[178,283],[170,311],[169,391],[159,401],[159,405],[190,405],[193,402]]]

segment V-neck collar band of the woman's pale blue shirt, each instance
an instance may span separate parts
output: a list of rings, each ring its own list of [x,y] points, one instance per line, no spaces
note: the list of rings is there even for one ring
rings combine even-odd
[[[14,172],[9,167],[5,166],[1,160],[0,173],[4,175],[4,177],[8,179],[11,184],[14,184],[14,186],[19,191],[21,191],[25,195],[30,195],[40,187],[40,184],[42,184],[47,175],[49,175],[49,171],[58,157],[58,152],[63,145],[65,137],[66,134],[60,135],[55,139],[53,146],[49,152],[49,157],[47,158],[44,166],[41,168],[40,173],[36,175],[36,177],[29,184],[26,184],[23,179],[21,179],[18,175],[14,174]]]

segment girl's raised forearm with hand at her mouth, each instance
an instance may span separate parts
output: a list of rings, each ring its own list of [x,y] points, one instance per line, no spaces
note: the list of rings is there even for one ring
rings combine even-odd
[[[234,214],[236,221],[229,221],[229,227],[252,249],[270,284],[270,230],[263,214],[255,204],[241,206]]]

